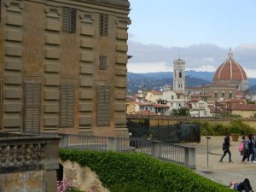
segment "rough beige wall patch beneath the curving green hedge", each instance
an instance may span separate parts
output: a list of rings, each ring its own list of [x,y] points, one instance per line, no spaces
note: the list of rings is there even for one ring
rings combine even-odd
[[[75,189],[82,191],[109,192],[102,186],[102,182],[96,175],[96,172],[90,170],[90,167],[80,166],[77,162],[61,162],[63,166],[63,179]]]

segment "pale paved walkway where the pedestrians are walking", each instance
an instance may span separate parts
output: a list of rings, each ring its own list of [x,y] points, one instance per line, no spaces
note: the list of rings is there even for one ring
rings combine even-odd
[[[208,140],[207,137],[201,137],[201,143],[184,143],[184,145],[195,146],[196,148],[195,172],[224,185],[229,185],[230,180],[240,182],[244,178],[249,178],[253,189],[256,190],[256,163],[241,164],[242,157],[238,151],[241,137],[239,140],[238,142],[230,142],[230,152],[232,154],[231,159],[233,163],[229,163],[228,154],[224,157],[223,163],[219,162],[223,154],[222,143],[224,143],[224,137],[213,136]],[[207,148],[209,152],[208,158]]]

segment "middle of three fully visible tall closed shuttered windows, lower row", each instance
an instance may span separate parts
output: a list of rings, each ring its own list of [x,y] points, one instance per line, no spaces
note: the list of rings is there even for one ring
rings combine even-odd
[[[60,127],[73,127],[74,125],[74,84],[60,85]]]

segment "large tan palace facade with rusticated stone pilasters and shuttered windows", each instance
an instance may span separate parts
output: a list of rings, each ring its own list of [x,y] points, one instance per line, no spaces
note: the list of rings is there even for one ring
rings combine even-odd
[[[128,136],[128,0],[3,0],[0,131]]]

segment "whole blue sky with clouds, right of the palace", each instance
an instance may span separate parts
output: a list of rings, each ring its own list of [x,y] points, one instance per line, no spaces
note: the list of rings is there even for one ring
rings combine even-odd
[[[128,72],[214,72],[230,48],[249,78],[256,78],[255,0],[129,0]]]

